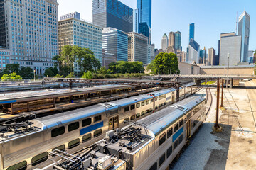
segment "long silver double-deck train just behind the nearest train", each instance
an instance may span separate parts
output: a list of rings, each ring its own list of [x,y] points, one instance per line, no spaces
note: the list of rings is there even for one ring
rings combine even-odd
[[[180,98],[195,93],[193,85],[183,86]],[[54,159],[48,156],[53,149],[65,149],[73,153],[102,139],[108,130],[122,127],[124,120],[139,120],[175,102],[176,90],[164,89],[49,115],[26,123],[6,125],[7,128],[0,132],[0,169],[40,167],[41,162],[46,162],[48,158]]]

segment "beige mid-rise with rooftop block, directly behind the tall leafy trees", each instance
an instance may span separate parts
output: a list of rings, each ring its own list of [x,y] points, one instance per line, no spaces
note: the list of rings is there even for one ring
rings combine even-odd
[[[102,63],[102,28],[78,18],[65,18],[58,22],[59,52],[65,45],[89,48]],[[75,64],[75,72],[80,68]]]

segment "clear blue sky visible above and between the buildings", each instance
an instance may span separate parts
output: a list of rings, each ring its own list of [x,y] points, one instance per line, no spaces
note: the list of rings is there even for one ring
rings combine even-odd
[[[136,0],[119,0],[136,8]],[[58,15],[79,12],[92,21],[92,0],[58,0]],[[181,46],[188,46],[188,24],[195,23],[195,40],[200,47],[218,50],[220,33],[235,32],[236,18],[246,9],[250,15],[249,50],[256,50],[255,0],[152,0],[152,43],[161,48],[161,38],[170,31],[181,31]]]

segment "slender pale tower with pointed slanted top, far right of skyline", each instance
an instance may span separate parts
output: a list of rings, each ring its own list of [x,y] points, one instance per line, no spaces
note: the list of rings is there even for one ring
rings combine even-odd
[[[238,35],[242,35],[241,59],[240,62],[247,62],[249,36],[250,36],[250,16],[244,11],[239,16]]]

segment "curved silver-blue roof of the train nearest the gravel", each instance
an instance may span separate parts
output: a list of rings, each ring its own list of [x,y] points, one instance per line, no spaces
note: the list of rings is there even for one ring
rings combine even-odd
[[[159,135],[162,130],[169,127],[169,125],[174,124],[184,114],[191,111],[192,108],[205,100],[206,99],[201,96],[190,96],[183,99],[183,101],[179,101],[178,103],[168,106],[161,111],[157,111],[156,113],[138,120],[137,122],[146,125],[146,128],[151,130],[154,135]]]

